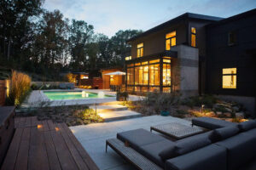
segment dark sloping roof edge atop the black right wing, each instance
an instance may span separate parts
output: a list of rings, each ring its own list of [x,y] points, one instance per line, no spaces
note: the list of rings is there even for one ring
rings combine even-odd
[[[240,20],[242,18],[251,16],[253,14],[256,14],[256,8],[253,8],[252,10],[246,11],[241,14],[236,14],[236,15],[230,16],[229,18],[226,18],[224,20],[219,20],[218,22],[212,23],[212,24],[208,25],[207,27],[218,26],[218,25],[230,22],[230,21]]]

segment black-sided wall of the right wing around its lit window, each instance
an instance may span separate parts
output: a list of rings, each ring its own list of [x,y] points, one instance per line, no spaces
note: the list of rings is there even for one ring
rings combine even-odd
[[[256,14],[207,26],[207,92],[252,96],[256,94]],[[236,44],[228,34],[236,32]],[[237,68],[236,89],[222,88],[222,69]]]

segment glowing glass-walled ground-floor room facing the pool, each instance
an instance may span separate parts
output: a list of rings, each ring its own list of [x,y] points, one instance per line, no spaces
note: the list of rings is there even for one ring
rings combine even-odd
[[[169,51],[125,61],[126,90],[172,92],[173,64],[177,52]]]

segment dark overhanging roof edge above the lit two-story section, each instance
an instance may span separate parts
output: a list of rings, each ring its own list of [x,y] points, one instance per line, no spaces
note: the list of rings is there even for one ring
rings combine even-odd
[[[224,18],[219,18],[219,17],[215,17],[215,16],[209,16],[209,15],[204,15],[204,14],[185,13],[185,14],[177,16],[176,18],[174,18],[172,20],[166,21],[166,22],[160,24],[159,26],[155,26],[155,27],[149,29],[148,31],[144,31],[143,33],[137,35],[136,37],[130,38],[126,42],[132,42],[132,41],[136,40],[139,37],[144,37],[144,36],[146,36],[146,35],[148,35],[150,33],[153,33],[153,32],[156,32],[156,31],[160,31],[160,30],[166,28],[166,26],[170,26],[172,24],[176,24],[177,22],[179,22],[181,20],[186,20],[186,19],[218,21],[218,20],[223,20]]]

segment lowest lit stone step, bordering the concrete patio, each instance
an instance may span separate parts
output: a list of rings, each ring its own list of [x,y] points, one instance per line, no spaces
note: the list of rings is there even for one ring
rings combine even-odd
[[[98,112],[97,114],[104,119],[104,122],[119,121],[142,116],[135,111],[108,111]]]

